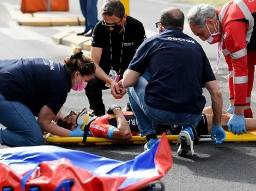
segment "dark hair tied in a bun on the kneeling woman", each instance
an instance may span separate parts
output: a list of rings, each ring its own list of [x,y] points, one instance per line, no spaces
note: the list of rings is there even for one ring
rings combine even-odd
[[[66,70],[70,73],[79,71],[83,75],[94,75],[96,66],[89,56],[84,56],[82,48],[74,48],[73,55],[63,61]]]

